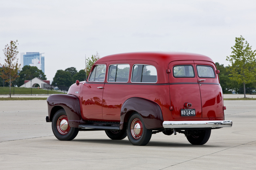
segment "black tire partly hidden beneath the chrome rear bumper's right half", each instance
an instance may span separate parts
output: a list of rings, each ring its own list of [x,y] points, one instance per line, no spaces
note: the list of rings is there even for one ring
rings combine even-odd
[[[204,145],[209,140],[210,136],[211,130],[204,130],[198,133],[187,135],[186,138],[192,145]]]

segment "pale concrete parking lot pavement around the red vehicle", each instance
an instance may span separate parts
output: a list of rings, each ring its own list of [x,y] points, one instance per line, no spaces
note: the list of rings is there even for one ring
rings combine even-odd
[[[233,127],[212,130],[205,145],[191,145],[180,133],[157,133],[148,145],[133,146],[104,131],[59,141],[45,122],[46,101],[0,101],[0,170],[255,170],[256,101],[224,103]]]

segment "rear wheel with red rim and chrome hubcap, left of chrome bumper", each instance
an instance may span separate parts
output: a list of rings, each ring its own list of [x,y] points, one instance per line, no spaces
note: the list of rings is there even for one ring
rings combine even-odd
[[[136,126],[139,128],[136,128]],[[147,145],[151,139],[152,129],[146,129],[143,119],[137,112],[135,112],[129,118],[126,133],[131,144],[144,146]]]

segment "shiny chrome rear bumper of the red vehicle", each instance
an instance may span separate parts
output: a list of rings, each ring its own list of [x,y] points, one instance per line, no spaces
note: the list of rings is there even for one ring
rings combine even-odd
[[[164,121],[164,128],[232,127],[232,121]]]

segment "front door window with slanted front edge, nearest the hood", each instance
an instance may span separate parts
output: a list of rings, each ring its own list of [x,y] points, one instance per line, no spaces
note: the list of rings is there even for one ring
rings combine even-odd
[[[89,81],[99,81],[102,82],[105,79],[106,66],[96,65],[91,72]]]

